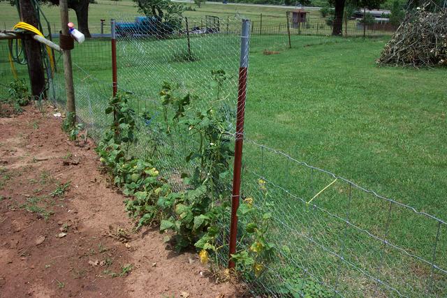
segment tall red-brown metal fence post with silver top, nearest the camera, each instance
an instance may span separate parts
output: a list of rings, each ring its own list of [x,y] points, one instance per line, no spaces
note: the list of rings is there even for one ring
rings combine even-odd
[[[228,268],[234,268],[231,255],[236,253],[237,208],[240,201],[240,176],[242,170],[242,142],[244,140],[245,98],[247,97],[247,70],[249,66],[250,21],[242,20],[240,44],[239,87],[237,91],[237,114],[235,134],[235,163],[233,170],[233,195],[231,198],[230,255]]]

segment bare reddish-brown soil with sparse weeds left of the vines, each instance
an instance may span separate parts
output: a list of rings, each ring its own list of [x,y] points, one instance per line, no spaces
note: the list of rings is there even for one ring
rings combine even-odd
[[[53,113],[0,118],[0,297],[242,296],[158,230],[133,232],[94,144]]]

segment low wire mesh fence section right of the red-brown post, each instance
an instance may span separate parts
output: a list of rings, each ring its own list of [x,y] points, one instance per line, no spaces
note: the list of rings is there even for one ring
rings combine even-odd
[[[243,195],[272,214],[277,252],[253,279],[257,295],[447,294],[445,221],[277,149],[244,146]]]

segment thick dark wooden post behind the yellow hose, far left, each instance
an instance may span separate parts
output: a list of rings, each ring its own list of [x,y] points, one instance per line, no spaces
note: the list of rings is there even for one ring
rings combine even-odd
[[[37,12],[29,0],[19,0],[20,20],[38,28]],[[31,83],[31,95],[34,100],[46,98],[45,73],[43,71],[41,44],[34,40],[31,34],[22,34],[25,55],[27,57],[29,82]]]

